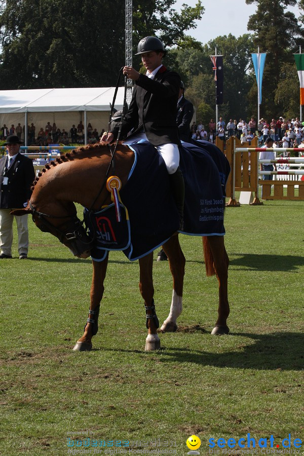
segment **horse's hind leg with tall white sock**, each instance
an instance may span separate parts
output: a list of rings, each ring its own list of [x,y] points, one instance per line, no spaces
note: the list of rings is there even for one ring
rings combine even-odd
[[[182,311],[182,289],[186,260],[179,245],[178,235],[172,236],[163,245],[163,249],[169,259],[170,271],[173,277],[173,293],[170,313],[164,321],[161,331],[174,332],[177,330],[176,320]]]

